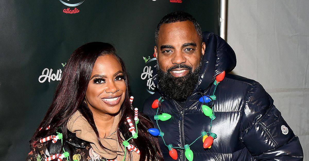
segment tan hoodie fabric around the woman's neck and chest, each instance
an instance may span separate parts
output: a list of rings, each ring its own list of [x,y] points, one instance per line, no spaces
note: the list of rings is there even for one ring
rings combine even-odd
[[[120,115],[121,114],[119,113],[115,116],[109,135],[104,138],[100,138],[101,144],[106,148],[102,148],[99,145],[99,140],[95,135],[95,132],[91,128],[86,118],[79,111],[76,111],[70,117],[67,123],[67,127],[69,131],[76,133],[76,136],[79,139],[90,142],[92,149],[102,157],[106,159],[116,159],[118,161],[122,161],[125,147],[120,146],[117,139],[117,129],[118,123],[120,121]],[[128,153],[130,152],[127,150],[125,160],[129,160]],[[134,161],[139,160],[139,155],[137,153],[132,152],[131,154]]]

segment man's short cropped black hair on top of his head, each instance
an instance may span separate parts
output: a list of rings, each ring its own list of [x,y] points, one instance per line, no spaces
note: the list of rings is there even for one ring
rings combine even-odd
[[[201,42],[203,40],[203,34],[202,34],[202,29],[200,24],[196,21],[196,19],[191,15],[186,12],[182,11],[175,11],[172,13],[169,13],[165,15],[161,21],[159,22],[156,30],[155,30],[155,44],[158,43],[158,36],[159,36],[159,30],[160,26],[164,23],[173,23],[173,22],[183,22],[183,21],[191,21],[193,22],[194,28],[197,32],[197,35],[200,37]]]

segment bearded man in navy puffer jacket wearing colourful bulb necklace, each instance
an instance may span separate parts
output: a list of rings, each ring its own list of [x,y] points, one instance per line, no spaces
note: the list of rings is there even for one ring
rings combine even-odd
[[[159,130],[150,134],[162,136],[165,160],[303,160],[298,137],[264,88],[227,74],[236,57],[222,38],[173,12],[159,22],[155,42],[158,92],[143,112]]]

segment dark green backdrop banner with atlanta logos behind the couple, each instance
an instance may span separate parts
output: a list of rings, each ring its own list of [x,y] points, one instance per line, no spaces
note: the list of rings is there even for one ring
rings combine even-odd
[[[24,160],[52,102],[63,66],[79,46],[112,43],[124,60],[133,106],[155,87],[154,33],[164,15],[185,11],[219,34],[218,0],[5,0],[0,2],[0,160]]]

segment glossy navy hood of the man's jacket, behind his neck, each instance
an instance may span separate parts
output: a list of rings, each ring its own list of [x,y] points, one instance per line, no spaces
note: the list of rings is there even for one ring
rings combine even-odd
[[[205,54],[199,73],[199,79],[195,91],[204,91],[210,87],[216,75],[222,71],[231,72],[236,66],[236,55],[231,46],[220,36],[203,32],[203,42],[206,44]],[[154,68],[153,81],[158,87],[158,74]],[[160,87],[158,87],[160,91]]]

